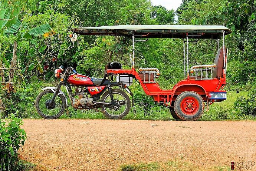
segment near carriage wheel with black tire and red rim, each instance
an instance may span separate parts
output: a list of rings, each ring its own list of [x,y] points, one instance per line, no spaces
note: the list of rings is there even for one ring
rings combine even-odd
[[[194,91],[184,91],[176,98],[174,111],[182,120],[197,120],[204,114],[204,100]]]

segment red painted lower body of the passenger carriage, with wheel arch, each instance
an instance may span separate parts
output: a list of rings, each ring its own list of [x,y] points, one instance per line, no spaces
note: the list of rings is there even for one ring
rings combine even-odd
[[[220,88],[226,84],[226,76],[224,74],[223,77],[214,78],[213,80],[194,80],[188,77],[179,81],[172,89],[162,90],[158,83],[143,83],[134,68],[132,70],[107,70],[106,73],[109,75],[132,74],[140,82],[147,95],[152,96],[154,101],[158,103],[164,102],[165,104],[174,101],[177,95],[184,91],[195,91],[202,95],[204,101],[207,101],[209,92],[220,92]],[[221,92],[225,91],[221,90]]]

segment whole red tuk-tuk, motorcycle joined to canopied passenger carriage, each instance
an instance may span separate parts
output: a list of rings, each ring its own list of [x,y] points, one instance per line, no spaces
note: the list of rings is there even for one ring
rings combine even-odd
[[[65,83],[64,76],[60,83],[65,84],[67,91],[69,92],[70,101],[72,106],[79,109],[101,107],[101,111],[108,118],[123,118],[128,114],[130,102],[127,100],[115,100],[111,95],[111,83],[107,83],[111,76],[116,76],[116,85],[124,88],[131,96],[132,93],[128,86],[131,85],[132,79],[137,80],[145,94],[151,96],[158,104],[162,104],[165,107],[170,108],[171,115],[175,119],[181,120],[197,120],[204,113],[205,104],[208,108],[209,104],[214,102],[220,102],[226,100],[226,91],[222,90],[226,84],[226,68],[227,68],[227,54],[228,50],[225,48],[224,36],[230,34],[232,31],[224,26],[188,26],[188,25],[123,25],[123,26],[103,26],[103,27],[85,27],[85,28],[73,28],[73,34],[71,34],[71,40],[76,41],[77,35],[100,35],[100,36],[125,36],[132,40],[132,57],[131,69],[122,69],[121,64],[118,62],[110,63],[106,66],[105,76],[101,79],[89,78],[78,74],[75,76],[72,74],[73,82],[67,81]],[[219,46],[220,38],[223,38],[223,47]],[[141,40],[144,38],[145,40]],[[135,67],[135,41],[147,41],[148,38],[182,38],[183,39],[183,54],[184,54],[184,80],[179,81],[170,90],[163,90],[160,88],[156,79],[160,76],[160,71],[157,68],[136,68]],[[192,39],[192,40],[191,40]],[[216,54],[213,64],[210,65],[198,65],[189,68],[188,60],[188,42],[196,42],[199,39],[215,39],[217,40],[218,52]],[[60,68],[62,69],[62,68]],[[70,68],[69,68],[70,69]],[[71,68],[70,71],[72,71]],[[64,71],[64,70],[62,70]],[[61,71],[56,71],[57,75]],[[75,74],[76,71],[73,70]],[[67,72],[70,74],[70,72]],[[73,76],[74,75],[74,76]],[[69,76],[70,77],[70,76]],[[77,79],[85,79],[87,82],[76,84]],[[88,84],[88,79],[91,84]],[[112,80],[113,81],[113,80]],[[79,99],[74,99],[72,92],[70,91],[69,84],[75,86],[83,86],[82,90],[88,92],[92,98],[84,98],[83,95],[79,96]],[[108,86],[107,86],[108,85]],[[114,84],[113,84],[114,85]],[[59,86],[59,87],[60,87]],[[90,86],[90,87],[88,87]],[[92,87],[94,86],[94,87]],[[98,87],[97,87],[98,86]],[[108,87],[108,88],[107,88]],[[76,92],[79,87],[76,88]],[[104,99],[97,101],[102,92],[95,93],[91,90],[109,90],[112,102],[106,103]],[[48,90],[47,90],[48,89]],[[53,92],[54,94],[62,94],[59,88],[45,88],[45,91]],[[80,90],[80,89],[79,89]],[[60,92],[60,93],[58,93]],[[119,92],[119,94],[122,94]],[[39,95],[40,96],[40,95]],[[56,96],[56,95],[54,95]],[[105,94],[102,95],[105,97]],[[106,95],[108,96],[108,95]],[[125,95],[123,95],[125,96]],[[86,96],[87,97],[87,96]],[[87,104],[87,100],[91,103]],[[46,98],[47,100],[47,98]],[[81,101],[86,101],[81,105]],[[78,103],[79,102],[79,103]],[[132,97],[133,102],[133,97]],[[67,101],[66,101],[67,103]],[[47,109],[52,110],[54,104],[54,98],[46,101]],[[76,106],[79,105],[78,106]],[[102,106],[100,106],[102,105]],[[117,115],[108,113],[106,108],[110,110],[118,110],[120,106],[125,105],[125,112]],[[40,111],[37,110],[40,114]],[[62,110],[63,113],[64,110]],[[42,114],[40,114],[42,115]],[[60,114],[61,115],[61,114]],[[59,115],[58,115],[59,117]],[[50,118],[50,117],[45,117]],[[53,117],[57,118],[57,117]]]

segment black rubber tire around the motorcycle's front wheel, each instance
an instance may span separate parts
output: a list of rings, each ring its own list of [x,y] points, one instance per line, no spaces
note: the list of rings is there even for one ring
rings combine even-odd
[[[40,99],[43,97],[43,95],[47,94],[47,93],[51,93],[53,95],[53,91],[52,90],[44,90],[42,91],[40,94],[37,95],[36,97],[36,100],[35,100],[35,108],[36,108],[36,111],[37,113],[45,118],[45,119],[57,119],[59,118],[65,111],[65,108],[66,108],[66,98],[64,97],[63,94],[59,94],[56,98],[60,98],[61,102],[62,102],[62,106],[60,108],[60,111],[52,116],[49,116],[49,115],[46,115],[46,113],[44,114],[41,110],[40,110],[40,105],[39,105],[39,102],[40,102]],[[55,99],[56,100],[56,99]],[[41,104],[43,105],[43,104]],[[49,109],[50,110],[50,109]]]

